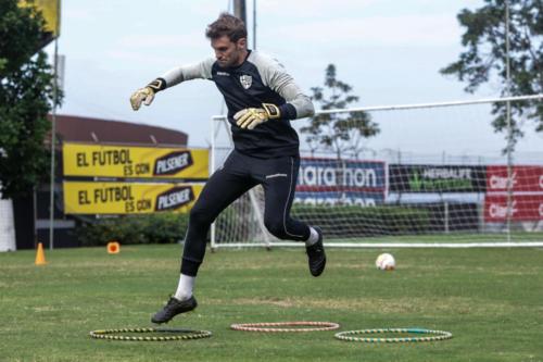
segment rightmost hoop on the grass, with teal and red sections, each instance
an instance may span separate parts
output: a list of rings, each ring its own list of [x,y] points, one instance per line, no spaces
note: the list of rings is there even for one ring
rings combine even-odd
[[[352,337],[353,335],[377,335],[377,334],[417,334],[431,335],[430,337],[396,337],[396,338],[375,338],[375,337]],[[383,329],[363,329],[340,332],[334,335],[337,339],[348,341],[359,341],[367,344],[405,344],[405,342],[424,342],[437,341],[453,338],[453,334],[446,330],[432,330],[420,328],[383,328]]]

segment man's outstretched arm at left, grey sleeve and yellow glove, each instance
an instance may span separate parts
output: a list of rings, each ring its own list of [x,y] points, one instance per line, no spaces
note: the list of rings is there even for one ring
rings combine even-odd
[[[136,90],[130,97],[132,110],[137,111],[141,103],[150,105],[154,99],[154,95],[161,90],[178,85],[181,82],[203,78],[211,79],[211,70],[215,60],[206,59],[203,62],[181,65],[166,72],[162,77],[159,77],[148,84],[146,87]]]

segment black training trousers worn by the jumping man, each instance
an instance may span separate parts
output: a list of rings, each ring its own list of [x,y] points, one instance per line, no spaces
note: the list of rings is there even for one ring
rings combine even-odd
[[[211,224],[224,209],[258,184],[264,187],[264,225],[269,233],[279,239],[307,240],[310,227],[290,217],[299,168],[298,157],[258,159],[232,151],[224,166],[207,180],[190,211],[181,273],[198,274]]]

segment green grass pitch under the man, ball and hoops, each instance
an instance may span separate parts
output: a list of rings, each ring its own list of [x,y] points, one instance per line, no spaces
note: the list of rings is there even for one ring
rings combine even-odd
[[[179,246],[0,253],[0,361],[543,361],[543,249],[330,249],[319,278],[301,249],[219,250],[197,280],[200,307],[169,327],[213,337],[96,340],[92,329],[150,326],[177,286]],[[231,323],[331,321],[340,330],[424,327],[445,341],[365,345],[333,332],[254,334]]]

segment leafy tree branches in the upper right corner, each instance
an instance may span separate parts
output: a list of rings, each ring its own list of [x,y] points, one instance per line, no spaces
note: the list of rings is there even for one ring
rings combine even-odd
[[[505,0],[484,0],[475,11],[463,9],[458,22],[466,28],[462,36],[465,51],[459,59],[441,70],[466,82],[468,92],[485,83],[501,85],[502,96],[543,92],[543,2],[509,0],[510,83],[506,76],[506,4]],[[509,88],[509,89],[508,89]],[[510,102],[513,143],[523,136],[521,124],[531,121],[536,132],[543,130],[543,102]],[[506,104],[494,103],[492,122],[496,132],[507,128]]]

